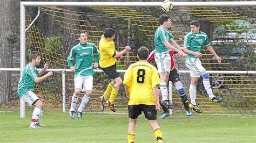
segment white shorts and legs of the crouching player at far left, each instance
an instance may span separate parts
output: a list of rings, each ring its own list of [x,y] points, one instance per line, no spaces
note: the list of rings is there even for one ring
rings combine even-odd
[[[43,103],[39,100],[39,98],[32,92],[29,91],[25,95],[21,97],[29,106],[34,105],[35,108],[32,113],[31,123],[29,128],[39,128],[36,124],[38,122],[39,117],[41,116],[41,111],[43,109]]]

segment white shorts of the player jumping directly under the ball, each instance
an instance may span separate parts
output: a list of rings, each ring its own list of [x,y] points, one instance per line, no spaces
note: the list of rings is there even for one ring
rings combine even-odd
[[[162,73],[167,71],[170,73],[171,70],[171,56],[169,51],[166,53],[156,53],[154,54],[154,60],[157,63],[157,71],[158,73]]]

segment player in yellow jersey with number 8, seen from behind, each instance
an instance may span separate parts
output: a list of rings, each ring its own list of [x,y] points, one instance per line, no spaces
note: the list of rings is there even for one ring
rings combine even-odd
[[[137,118],[144,112],[157,142],[163,142],[163,133],[157,123],[157,110],[160,110],[158,85],[160,78],[157,69],[147,63],[149,49],[138,49],[139,62],[133,63],[124,75],[125,94],[129,99],[128,142],[134,142]]]

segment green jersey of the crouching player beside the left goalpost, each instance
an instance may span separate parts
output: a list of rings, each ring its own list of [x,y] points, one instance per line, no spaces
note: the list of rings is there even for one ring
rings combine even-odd
[[[18,83],[18,96],[22,97],[27,92],[31,91],[35,87],[35,80],[38,77],[38,71],[31,63],[25,66],[22,70],[22,77]]]

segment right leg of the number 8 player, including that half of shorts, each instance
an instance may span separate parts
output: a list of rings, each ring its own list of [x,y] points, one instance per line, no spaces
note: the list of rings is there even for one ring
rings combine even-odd
[[[149,125],[153,130],[153,134],[157,139],[157,142],[163,142],[163,133],[157,123],[157,110],[155,105],[143,105],[143,112],[145,118],[149,121]]]

